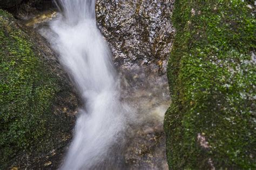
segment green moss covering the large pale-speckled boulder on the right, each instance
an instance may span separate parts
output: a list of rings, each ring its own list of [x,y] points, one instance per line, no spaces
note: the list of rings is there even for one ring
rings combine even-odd
[[[176,0],[174,7],[164,123],[170,168],[255,168],[252,2]]]

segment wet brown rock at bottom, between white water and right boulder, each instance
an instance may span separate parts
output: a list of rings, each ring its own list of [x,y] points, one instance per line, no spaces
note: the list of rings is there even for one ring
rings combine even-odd
[[[124,159],[128,169],[168,169],[163,124],[158,130],[152,130],[157,126],[153,121],[140,126],[142,129],[133,133],[125,147]]]

